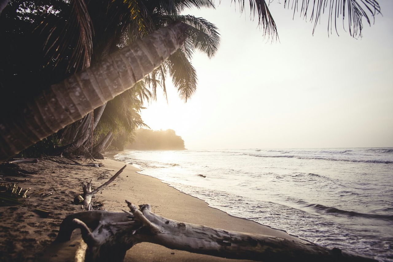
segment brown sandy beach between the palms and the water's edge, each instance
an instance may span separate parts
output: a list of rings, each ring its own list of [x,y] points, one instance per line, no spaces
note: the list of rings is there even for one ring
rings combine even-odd
[[[103,167],[59,164],[46,159],[40,159],[38,163],[19,164],[20,168],[34,171],[36,174],[35,178],[18,182],[18,185],[23,188],[31,188],[27,194],[29,198],[23,200],[23,206],[0,207],[1,260],[47,260],[48,256],[44,254],[53,253],[51,242],[57,236],[61,221],[67,215],[81,211],[81,206],[72,204],[73,198],[82,192],[81,182],[86,183],[93,179],[93,187],[99,186],[125,165],[112,159],[99,162],[103,164]],[[106,200],[105,209],[109,211],[128,209],[125,204],[125,199],[127,199],[138,205],[150,204],[152,212],[178,221],[305,242],[284,231],[236,218],[208,207],[204,201],[181,193],[158,179],[138,174],[136,171],[138,169],[132,164],[127,164],[123,173],[97,194],[99,199]],[[18,178],[18,180],[24,179]],[[40,197],[40,194],[47,192],[52,192],[52,195]],[[35,208],[49,210],[52,213],[47,218],[42,218]],[[79,238],[78,234],[74,235],[74,238]],[[72,252],[75,252],[75,248],[69,247],[62,252],[62,255],[52,256],[52,259],[53,261],[68,260],[73,257]],[[167,249],[151,243],[135,245],[125,257],[125,261],[207,260],[227,259]]]

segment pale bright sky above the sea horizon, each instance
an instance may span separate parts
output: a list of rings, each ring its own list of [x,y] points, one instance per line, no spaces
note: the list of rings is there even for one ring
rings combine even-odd
[[[145,104],[151,129],[175,130],[187,149],[393,146],[393,1],[378,1],[383,16],[364,22],[361,39],[342,26],[329,35],[326,15],[313,35],[313,23],[274,1],[273,43],[229,2],[184,12],[216,24],[220,48],[211,59],[195,53],[187,103],[167,79],[168,103],[158,94]]]

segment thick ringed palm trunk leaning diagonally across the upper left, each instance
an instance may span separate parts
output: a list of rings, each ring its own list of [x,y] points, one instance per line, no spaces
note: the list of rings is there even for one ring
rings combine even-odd
[[[0,120],[0,162],[113,99],[161,65],[184,42],[176,22],[108,55],[101,63],[51,85]]]

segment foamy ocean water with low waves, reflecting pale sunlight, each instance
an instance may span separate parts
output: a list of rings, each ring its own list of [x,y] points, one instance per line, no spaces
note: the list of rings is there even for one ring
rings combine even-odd
[[[393,261],[393,148],[128,151],[115,158],[230,215]]]

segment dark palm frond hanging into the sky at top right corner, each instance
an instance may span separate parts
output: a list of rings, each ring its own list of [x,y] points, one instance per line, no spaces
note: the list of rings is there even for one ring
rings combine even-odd
[[[299,2],[301,2],[300,11]],[[332,33],[334,28],[338,34],[337,19],[342,17],[343,28],[348,29],[352,37],[362,37],[363,18],[371,25],[371,17],[374,18],[381,11],[376,0],[285,0],[284,7],[292,8],[294,14],[299,11],[305,19],[310,17],[310,22],[314,21],[312,33],[320,23],[321,15],[328,12],[328,31]]]

